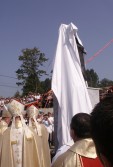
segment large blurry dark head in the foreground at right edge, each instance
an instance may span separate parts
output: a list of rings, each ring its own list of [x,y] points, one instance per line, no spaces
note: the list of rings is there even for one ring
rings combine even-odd
[[[91,113],[91,127],[98,154],[113,165],[113,94],[95,106]]]

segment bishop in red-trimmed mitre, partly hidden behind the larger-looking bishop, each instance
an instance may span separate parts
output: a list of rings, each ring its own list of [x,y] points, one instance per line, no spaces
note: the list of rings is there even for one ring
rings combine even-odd
[[[41,141],[41,162],[42,167],[50,167],[51,159],[50,159],[50,149],[48,144],[48,131],[46,127],[38,123],[36,118],[39,114],[39,110],[35,105],[30,105],[27,107],[27,114],[29,117],[29,127],[31,127],[36,133],[37,137],[40,138]]]

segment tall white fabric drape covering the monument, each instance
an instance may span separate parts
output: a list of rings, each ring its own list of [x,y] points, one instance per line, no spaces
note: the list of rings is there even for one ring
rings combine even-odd
[[[81,71],[75,36],[82,45],[77,35],[77,27],[72,23],[61,24],[52,76],[52,90],[59,104],[59,147],[70,141],[71,118],[79,112],[90,113],[92,109]]]

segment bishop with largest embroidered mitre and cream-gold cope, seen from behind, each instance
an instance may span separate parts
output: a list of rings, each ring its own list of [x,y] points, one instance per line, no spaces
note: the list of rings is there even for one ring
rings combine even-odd
[[[22,116],[24,105],[13,99],[7,107],[13,120],[3,134],[0,167],[42,167],[40,143]]]

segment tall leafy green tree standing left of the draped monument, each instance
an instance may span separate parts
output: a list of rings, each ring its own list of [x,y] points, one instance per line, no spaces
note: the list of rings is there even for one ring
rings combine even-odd
[[[22,55],[18,59],[22,64],[16,71],[19,80],[17,85],[23,86],[23,95],[27,95],[30,91],[38,92],[40,78],[47,75],[46,71],[43,70],[44,63],[48,61],[45,54],[36,47],[33,49],[26,48],[22,50]]]

